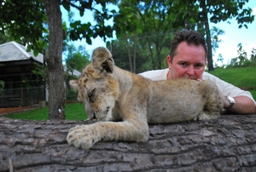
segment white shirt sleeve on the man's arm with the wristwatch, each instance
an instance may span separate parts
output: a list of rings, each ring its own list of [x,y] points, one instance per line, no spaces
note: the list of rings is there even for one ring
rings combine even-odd
[[[226,83],[223,80],[219,79],[218,77],[213,76],[212,74],[210,74],[208,72],[203,72],[201,79],[202,80],[207,80],[207,79],[212,80],[214,83],[216,83],[218,90],[225,96],[236,97],[239,95],[244,95],[244,96],[247,96],[248,98],[250,98],[251,100],[253,100],[253,95],[249,91],[239,89],[238,87],[236,87],[230,83]],[[256,105],[255,100],[253,100],[253,102]]]

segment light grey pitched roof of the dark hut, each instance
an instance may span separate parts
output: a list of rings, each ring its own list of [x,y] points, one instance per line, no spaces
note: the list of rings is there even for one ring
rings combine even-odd
[[[26,52],[26,47],[20,45],[20,43],[15,43],[14,41],[12,41],[0,45],[0,62],[31,59],[36,60],[40,63],[44,63],[43,54],[38,54],[37,56],[34,56],[33,51]]]

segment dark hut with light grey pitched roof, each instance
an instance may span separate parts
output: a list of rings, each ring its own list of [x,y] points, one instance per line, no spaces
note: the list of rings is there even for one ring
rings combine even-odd
[[[35,74],[38,66],[44,67],[44,55],[26,52],[20,43],[0,45],[0,107],[32,106],[46,99],[44,78]]]

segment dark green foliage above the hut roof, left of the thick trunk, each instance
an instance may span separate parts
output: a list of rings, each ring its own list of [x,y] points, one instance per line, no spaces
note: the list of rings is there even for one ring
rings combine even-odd
[[[14,11],[19,14],[14,14]],[[0,32],[15,41],[28,45],[34,54],[42,52],[47,40],[43,34],[46,29],[46,14],[42,0],[1,1]]]

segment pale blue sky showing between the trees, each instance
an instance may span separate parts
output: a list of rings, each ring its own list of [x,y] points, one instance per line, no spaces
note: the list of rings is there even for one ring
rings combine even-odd
[[[250,0],[249,3],[245,6],[253,9],[253,14],[256,15],[256,1]],[[62,19],[67,21],[67,11],[62,10]],[[80,17],[78,10],[73,10],[75,13],[74,20],[81,20],[83,23],[90,21],[93,25],[95,22],[92,17],[92,13],[90,10],[85,10],[84,17]],[[91,16],[91,17],[90,17]],[[228,23],[230,21],[230,24]],[[237,45],[241,43],[243,49],[247,51],[247,55],[251,54],[251,49],[256,49],[256,18],[254,19],[252,24],[247,24],[248,28],[245,27],[238,28],[236,19],[228,20],[225,22],[220,22],[218,24],[210,24],[210,28],[212,26],[217,26],[219,29],[224,30],[224,35],[219,38],[222,39],[222,43],[219,43],[219,48],[217,52],[213,56],[213,60],[217,61],[218,54],[222,54],[224,58],[224,64],[230,63],[230,59],[237,56]],[[111,24],[112,21],[110,20]],[[99,46],[105,46],[101,37],[96,37],[92,40],[92,44],[89,45],[85,42],[85,40],[74,42],[75,46],[83,45],[85,49],[91,54],[92,50]]]

